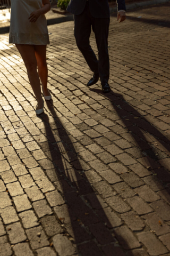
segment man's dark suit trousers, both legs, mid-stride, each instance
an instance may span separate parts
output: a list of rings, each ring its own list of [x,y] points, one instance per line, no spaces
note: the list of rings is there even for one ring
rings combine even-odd
[[[74,15],[74,36],[77,46],[83,54],[89,68],[94,73],[99,73],[101,83],[109,79],[109,55],[108,55],[108,30],[109,18],[94,18],[89,11],[87,1],[84,11],[80,15]],[[90,46],[91,27],[95,33],[98,48],[97,60]]]

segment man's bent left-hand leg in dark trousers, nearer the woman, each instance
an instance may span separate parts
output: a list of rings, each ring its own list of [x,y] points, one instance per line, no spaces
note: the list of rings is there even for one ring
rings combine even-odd
[[[74,36],[77,46],[92,72],[98,73],[98,60],[90,46],[91,19],[88,3],[80,15],[74,15]]]

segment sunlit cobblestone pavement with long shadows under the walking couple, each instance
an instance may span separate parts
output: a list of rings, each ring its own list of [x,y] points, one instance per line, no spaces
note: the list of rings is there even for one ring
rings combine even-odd
[[[0,36],[1,256],[170,255],[169,7],[111,18],[108,94],[86,86],[73,22],[50,26],[40,117]]]

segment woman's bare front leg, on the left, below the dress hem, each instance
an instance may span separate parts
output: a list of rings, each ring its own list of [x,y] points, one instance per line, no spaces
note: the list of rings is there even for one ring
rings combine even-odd
[[[40,79],[37,73],[37,60],[34,45],[16,44],[16,48],[19,50],[25,67],[27,68],[28,78],[38,102],[37,109],[41,109],[43,108],[44,101],[41,95]]]

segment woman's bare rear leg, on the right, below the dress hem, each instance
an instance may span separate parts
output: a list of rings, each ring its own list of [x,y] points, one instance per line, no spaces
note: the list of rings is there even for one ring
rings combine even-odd
[[[50,93],[47,89],[47,82],[48,82],[48,68],[47,68],[47,61],[46,61],[46,51],[47,45],[35,45],[35,54],[37,59],[38,65],[38,74],[41,80],[41,84],[43,86],[43,93],[45,96],[49,96]]]

